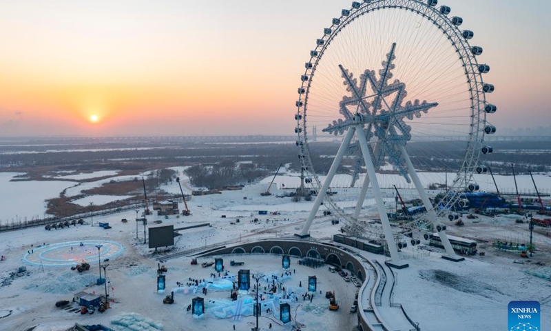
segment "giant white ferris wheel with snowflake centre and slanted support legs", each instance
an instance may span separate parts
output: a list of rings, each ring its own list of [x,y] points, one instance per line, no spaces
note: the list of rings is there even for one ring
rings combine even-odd
[[[384,238],[393,259],[404,234],[415,244],[429,230],[456,257],[441,220],[479,190],[473,174],[488,171],[480,157],[493,151],[484,137],[497,107],[486,101],[483,49],[451,11],[437,0],[364,0],[324,28],[296,101],[298,192],[317,195],[300,237],[325,202],[344,231]],[[393,205],[398,221],[388,220]]]

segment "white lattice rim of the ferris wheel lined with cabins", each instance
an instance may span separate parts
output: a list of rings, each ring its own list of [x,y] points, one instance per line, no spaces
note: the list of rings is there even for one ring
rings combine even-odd
[[[483,147],[486,134],[485,128],[488,125],[486,121],[486,112],[484,111],[484,108],[488,105],[486,102],[486,92],[484,91],[485,83],[482,78],[482,72],[477,72],[479,63],[476,57],[477,54],[475,54],[473,50],[473,48],[477,46],[470,46],[468,39],[463,35],[464,31],[469,30],[460,30],[459,25],[453,23],[453,18],[448,17],[447,13],[444,14],[444,12],[442,12],[441,8],[446,6],[437,8],[436,6],[430,5],[430,3],[433,2],[436,1],[429,0],[427,3],[419,0],[364,0],[363,3],[353,2],[353,6],[350,10],[342,10],[340,17],[338,19],[333,19],[331,27],[324,29],[324,35],[318,39],[315,49],[311,52],[310,61],[306,62],[306,70],[304,70],[304,74],[301,77],[302,85],[299,88],[299,98],[296,104],[297,115],[295,115],[295,119],[297,120],[295,132],[298,134],[297,145],[300,146],[300,152],[302,154],[302,157],[300,155],[302,170],[311,173],[311,180],[315,182],[315,187],[321,188],[322,185],[318,174],[315,174],[315,169],[311,161],[309,132],[307,130],[309,128],[307,126],[309,91],[311,83],[315,78],[315,71],[324,56],[324,52],[329,48],[331,42],[337,37],[339,32],[353,23],[355,19],[370,12],[374,12],[375,10],[410,10],[414,12],[427,21],[434,23],[441,32],[444,32],[451,45],[459,54],[459,59],[465,69],[464,75],[467,79],[466,83],[469,87],[468,92],[470,95],[471,115],[470,130],[468,132],[467,147],[461,168],[456,174],[455,181],[453,181],[448,192],[446,192],[446,196],[448,196],[448,194],[453,194],[453,197],[445,202],[444,208],[438,210],[446,210],[450,205],[453,205],[453,203],[459,199],[461,189],[464,189],[462,185],[471,181],[472,174],[474,174],[475,168],[479,165],[481,148]],[[327,30],[329,30],[329,33],[326,33]],[[472,32],[470,33],[472,34]],[[337,211],[340,216],[350,217],[349,214],[340,210],[331,197],[327,197],[326,201],[329,202],[333,210]]]

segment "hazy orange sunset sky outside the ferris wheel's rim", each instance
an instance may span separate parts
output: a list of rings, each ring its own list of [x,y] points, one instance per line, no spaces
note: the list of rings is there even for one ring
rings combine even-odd
[[[484,47],[498,130],[551,126],[551,3],[442,4]],[[304,62],[350,6],[0,1],[0,136],[293,134]]]

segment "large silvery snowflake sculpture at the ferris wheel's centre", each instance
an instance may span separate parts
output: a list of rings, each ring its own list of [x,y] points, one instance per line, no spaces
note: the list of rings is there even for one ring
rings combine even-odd
[[[375,76],[374,70],[366,70],[360,75],[360,85],[357,85],[357,79],[353,77],[353,73],[339,66],[344,79],[346,91],[351,92],[352,96],[344,96],[340,101],[340,114],[344,117],[329,124],[324,128],[324,132],[331,134],[343,134],[348,130],[349,126],[353,126],[353,118],[358,115],[362,117],[364,135],[367,141],[376,141],[375,148],[369,146],[369,152],[375,168],[379,168],[383,164],[385,157],[395,167],[408,183],[411,182],[409,174],[406,170],[404,156],[399,151],[397,146],[406,146],[406,143],[411,139],[411,127],[404,122],[404,118],[413,119],[413,117],[421,117],[421,112],[428,112],[430,108],[438,105],[438,103],[427,103],[419,100],[407,101],[405,106],[402,104],[407,96],[406,84],[399,80],[388,83],[388,80],[393,77],[392,70],[395,68],[393,60],[395,57],[396,43],[393,43],[391,51],[386,54],[386,61],[382,61],[383,68],[379,70],[380,80]],[[367,93],[367,85],[371,86],[372,94]],[[395,94],[393,101],[387,101],[386,97]],[[351,108],[355,108],[351,111]],[[359,132],[358,132],[359,134]],[[353,165],[353,175],[351,187],[357,181],[360,172],[362,171],[362,155],[359,152],[358,143],[353,143],[349,146],[349,152],[357,154],[355,164]]]

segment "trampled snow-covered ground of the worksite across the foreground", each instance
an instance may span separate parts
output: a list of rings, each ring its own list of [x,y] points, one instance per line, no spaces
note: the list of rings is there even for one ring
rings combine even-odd
[[[4,177],[0,177],[0,179],[9,184],[9,178],[13,174],[1,175]],[[180,178],[182,177],[180,176]],[[530,180],[529,177],[528,180]],[[289,198],[275,197],[275,194],[284,192],[278,188],[272,188],[274,195],[261,197],[260,192],[264,192],[267,188],[266,181],[267,179],[258,184],[247,185],[244,190],[193,197],[188,202],[193,213],[190,217],[176,218],[172,216],[169,219],[164,219],[152,216],[149,217],[148,226],[159,226],[154,225],[152,221],[155,220],[162,221],[160,225],[174,224],[175,228],[210,223],[211,226],[181,231],[182,235],[175,238],[175,252],[214,248],[220,244],[226,245],[239,241],[275,237],[291,238],[295,232],[300,230],[312,203],[304,201],[291,203]],[[24,185],[24,183],[37,184],[36,182],[13,184]],[[43,183],[48,185],[74,184],[59,181]],[[176,183],[167,186],[179,191]],[[48,192],[57,192],[57,190],[59,188],[54,187]],[[29,192],[25,192],[26,195],[20,192],[26,199],[12,200],[11,205],[8,206],[21,210],[21,212],[27,210],[27,203],[32,205],[35,200],[32,197],[32,194],[36,194],[35,192],[36,190],[29,190]],[[392,195],[389,196],[392,197]],[[245,197],[247,199],[243,199]],[[3,209],[0,212],[4,212]],[[259,223],[251,223],[251,220],[259,217],[258,210],[278,211],[280,214],[262,215]],[[313,223],[311,235],[315,239],[329,240],[333,234],[338,232],[339,227],[331,225],[331,217],[321,217],[321,212],[318,213],[320,218]],[[37,331],[63,330],[61,328],[63,325],[71,325],[74,322],[81,324],[103,323],[114,330],[129,330],[123,326],[125,323],[149,325],[147,326],[149,330],[219,331],[233,330],[233,324],[235,324],[236,330],[248,331],[253,327],[254,319],[249,315],[236,319],[216,316],[217,313],[231,312],[232,309],[236,309],[233,306],[236,303],[232,303],[228,299],[229,292],[227,290],[211,288],[212,290],[206,296],[207,308],[210,310],[207,309],[207,313],[202,319],[195,319],[190,312],[186,311],[185,308],[191,304],[191,299],[196,297],[196,292],[194,292],[196,289],[178,288],[176,281],[186,283],[189,282],[190,277],[192,279],[209,279],[210,273],[213,272],[211,268],[190,265],[191,257],[180,257],[164,263],[169,268],[167,291],[165,294],[156,293],[157,255],[152,255],[146,245],[143,245],[143,226],[141,223],[136,226],[135,215],[134,211],[127,211],[105,217],[94,217],[94,224],[109,222],[112,228],[108,230],[87,224],[62,230],[46,231],[40,227],[0,233],[0,241],[3,243],[0,246],[0,254],[7,257],[6,261],[0,262],[0,317],[9,314],[0,319],[0,330],[25,330],[25,328],[37,324],[40,325],[35,329]],[[222,215],[225,215],[225,218],[222,218]],[[236,218],[240,218],[239,223],[235,223]],[[121,219],[129,221],[123,223]],[[270,222],[266,222],[264,219],[270,219]],[[481,217],[477,220],[480,221],[479,223],[464,220],[466,221],[464,227],[457,228],[448,225],[448,232],[479,240],[479,249],[486,252],[486,256],[467,257],[464,262],[452,263],[441,259],[440,252],[436,248],[428,248],[424,245],[415,248],[408,247],[404,250],[403,256],[410,267],[397,270],[398,281],[394,290],[394,301],[402,303],[406,312],[414,321],[419,322],[421,330],[424,331],[505,330],[507,305],[512,300],[540,301],[541,325],[551,325],[551,314],[545,313],[551,309],[549,294],[551,293],[551,283],[533,275],[550,274],[551,270],[548,267],[550,259],[545,257],[545,254],[538,252],[530,259],[530,263],[524,260],[526,263],[517,264],[513,263],[519,259],[517,254],[497,252],[491,248],[491,245],[485,243],[485,241],[491,241],[496,237],[526,239],[529,233],[526,223],[514,223],[514,219],[507,217],[495,219]],[[87,219],[87,221],[90,220]],[[448,222],[448,224],[450,223]],[[136,233],[136,229],[138,233]],[[534,241],[542,250],[549,252],[551,238],[546,237],[545,232],[541,232],[540,228],[537,230],[534,232]],[[105,292],[103,285],[90,285],[97,278],[98,259],[96,254],[90,252],[92,268],[82,274],[71,271],[67,266],[50,266],[47,263],[39,263],[37,257],[42,254],[43,258],[50,260],[74,259],[70,247],[73,243],[80,241],[113,242],[123,247],[120,254],[111,257],[108,261],[109,286],[107,289],[110,290],[112,309],[103,314],[96,312],[92,315],[81,315],[79,312],[67,312],[54,306],[56,301],[70,300],[75,292],[81,290],[98,294]],[[47,250],[48,253],[43,254],[38,246],[44,244],[56,247],[56,250]],[[423,248],[428,248],[433,252]],[[30,253],[28,253],[29,251]],[[362,254],[370,259],[384,261],[382,256],[366,252],[362,252]],[[223,258],[225,261],[229,261],[234,257]],[[244,260],[251,272],[265,274],[282,272],[279,256],[250,254],[235,258]],[[25,262],[24,259],[30,263]],[[199,263],[206,260],[200,259]],[[543,265],[535,265],[537,262]],[[344,283],[337,274],[329,273],[326,268],[311,269],[299,266],[295,258],[291,263],[296,272],[293,273],[291,279],[284,282],[284,285],[294,288],[295,293],[300,293],[300,289],[296,288],[298,281],[302,279],[304,284],[304,279],[313,274],[318,277],[322,291],[333,289],[339,293],[342,292],[343,309],[338,312],[329,312],[326,299],[321,297],[315,297],[311,304],[301,305],[296,311],[296,319],[305,325],[303,330],[342,330],[342,323],[354,323],[355,314],[349,313],[347,307],[352,303],[352,295],[355,291],[351,283]],[[23,274],[22,277],[10,277],[10,273],[22,265],[27,267],[28,274]],[[232,274],[238,270],[238,268],[227,269]],[[176,303],[163,305],[162,299],[170,290],[176,290]],[[185,290],[187,290],[187,294],[185,294]],[[200,292],[199,295],[202,296]],[[248,299],[245,299],[246,297],[243,298],[245,303],[249,302]],[[383,314],[383,316],[385,315]],[[260,319],[262,330],[267,330],[268,323],[272,323],[273,330],[289,330],[288,327],[280,326],[277,323],[277,317],[270,318],[268,319],[264,314]]]

